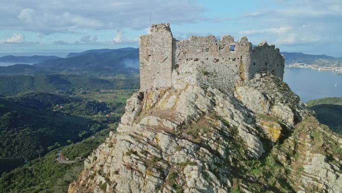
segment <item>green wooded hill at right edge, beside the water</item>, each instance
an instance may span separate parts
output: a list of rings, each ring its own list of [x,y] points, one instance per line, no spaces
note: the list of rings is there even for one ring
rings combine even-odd
[[[307,106],[314,110],[319,122],[342,134],[342,97],[329,97],[311,100]]]

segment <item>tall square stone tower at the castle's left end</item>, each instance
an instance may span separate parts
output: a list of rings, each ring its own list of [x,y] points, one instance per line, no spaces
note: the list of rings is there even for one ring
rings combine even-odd
[[[172,34],[168,25],[153,25],[139,41],[140,89],[170,87]]]

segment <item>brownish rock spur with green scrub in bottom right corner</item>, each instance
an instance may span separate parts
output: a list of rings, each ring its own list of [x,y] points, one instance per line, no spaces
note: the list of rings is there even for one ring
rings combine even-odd
[[[272,154],[291,169],[288,178],[298,193],[337,193],[342,191],[341,147],[340,136],[314,117],[306,117]]]

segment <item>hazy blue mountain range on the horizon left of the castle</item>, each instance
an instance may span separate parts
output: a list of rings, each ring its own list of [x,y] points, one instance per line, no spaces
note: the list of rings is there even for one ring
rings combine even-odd
[[[36,56],[32,56],[36,58]],[[4,56],[11,62],[28,63],[32,57]],[[136,73],[139,68],[139,53],[136,48],[88,50],[70,53],[66,58],[45,57],[33,65],[16,64],[0,67],[0,74],[37,74],[58,72],[81,73]],[[25,59],[25,60],[24,60]]]

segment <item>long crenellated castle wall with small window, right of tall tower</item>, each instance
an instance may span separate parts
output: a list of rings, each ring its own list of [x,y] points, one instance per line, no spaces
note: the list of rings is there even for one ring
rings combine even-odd
[[[192,36],[175,43],[172,85],[187,82],[232,92],[235,83],[241,80],[240,75],[244,76],[240,69],[248,62],[250,43],[236,43],[231,36],[224,36],[220,41],[214,36]],[[234,51],[229,49],[230,45]]]

